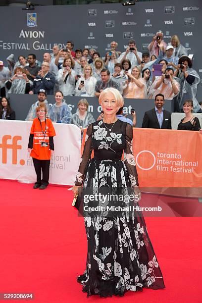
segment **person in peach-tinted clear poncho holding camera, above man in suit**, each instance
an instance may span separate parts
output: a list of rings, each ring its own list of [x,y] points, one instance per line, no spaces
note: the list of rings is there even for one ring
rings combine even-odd
[[[164,98],[167,100],[172,100],[176,97],[179,94],[180,85],[173,76],[173,69],[168,67],[165,70],[165,74],[156,77],[150,88],[149,99],[155,99],[157,94],[164,95]]]

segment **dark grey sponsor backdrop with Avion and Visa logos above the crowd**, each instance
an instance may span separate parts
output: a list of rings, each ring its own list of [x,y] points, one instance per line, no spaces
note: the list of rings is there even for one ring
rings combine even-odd
[[[42,60],[45,51],[51,51],[54,44],[64,47],[67,40],[75,48],[94,48],[103,56],[111,41],[117,41],[118,50],[124,51],[133,38],[143,52],[160,29],[167,43],[173,34],[179,36],[188,53],[194,54],[193,67],[202,75],[201,15],[201,0],[138,2],[131,7],[120,3],[39,6],[28,12],[2,7],[0,59],[5,61],[10,53],[17,58],[34,52]]]

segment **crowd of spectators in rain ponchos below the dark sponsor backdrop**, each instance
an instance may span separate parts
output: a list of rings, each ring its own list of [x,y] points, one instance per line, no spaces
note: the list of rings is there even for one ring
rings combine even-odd
[[[155,99],[157,94],[162,94],[165,99],[174,99],[177,112],[183,112],[184,102],[192,100],[193,111],[202,112],[196,99],[200,77],[177,35],[166,44],[162,31],[157,31],[144,53],[138,51],[134,40],[128,41],[124,52],[118,50],[115,41],[110,46],[104,57],[94,49],[74,50],[71,41],[67,41],[65,49],[54,45],[51,53],[44,53],[42,62],[34,53],[27,57],[21,54],[17,62],[11,54],[7,57],[7,67],[0,61],[0,96],[36,94],[38,101],[30,108],[26,120],[36,117],[36,108],[44,101],[47,115],[52,121],[62,123],[79,124],[83,120],[81,104],[72,116],[62,101],[64,97],[99,97],[108,87],[116,88],[124,98],[130,99]],[[48,104],[47,95],[55,95],[53,106]],[[88,108],[86,99],[82,100]]]

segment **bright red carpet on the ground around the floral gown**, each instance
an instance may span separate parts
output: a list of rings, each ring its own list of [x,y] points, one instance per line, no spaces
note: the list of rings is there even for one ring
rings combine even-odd
[[[202,302],[202,218],[146,218],[166,289],[129,292],[122,298],[89,299],[82,274],[87,243],[84,220],[65,187],[33,190],[0,180],[0,293],[34,293],[34,303]]]

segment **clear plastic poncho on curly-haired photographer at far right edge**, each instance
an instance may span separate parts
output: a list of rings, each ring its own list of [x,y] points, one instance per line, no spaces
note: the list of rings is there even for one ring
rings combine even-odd
[[[175,104],[176,104],[176,111],[180,112],[181,109],[183,108],[183,103],[186,100],[193,100],[194,103],[194,112],[198,112],[201,110],[201,106],[196,98],[197,96],[197,86],[200,83],[200,76],[194,70],[193,68],[187,68],[187,72],[189,75],[194,76],[195,80],[192,84],[189,84],[187,80],[185,79],[184,73],[179,72],[177,81],[180,84],[180,93],[179,95],[175,98]]]

